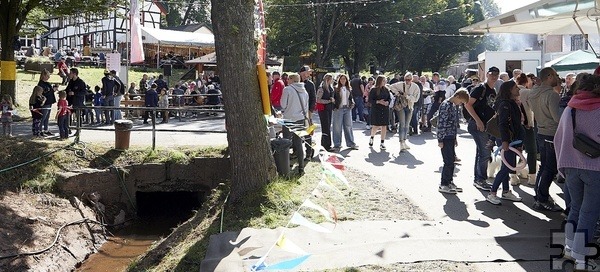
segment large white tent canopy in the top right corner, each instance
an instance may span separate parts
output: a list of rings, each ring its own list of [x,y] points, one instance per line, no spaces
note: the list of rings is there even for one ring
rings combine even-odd
[[[600,0],[542,0],[460,29],[466,33],[574,35],[598,33]],[[578,27],[578,24],[581,30]]]

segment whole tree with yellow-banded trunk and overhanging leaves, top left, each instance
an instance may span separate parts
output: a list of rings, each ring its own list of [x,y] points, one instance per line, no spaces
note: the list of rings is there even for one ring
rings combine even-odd
[[[32,12],[39,10],[57,16],[99,13],[123,3],[123,0],[0,0],[0,93],[15,97],[14,41]]]

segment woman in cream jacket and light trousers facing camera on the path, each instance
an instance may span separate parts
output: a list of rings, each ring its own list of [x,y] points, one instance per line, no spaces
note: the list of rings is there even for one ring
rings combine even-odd
[[[404,75],[404,81],[390,85],[390,90],[395,96],[394,110],[398,114],[398,137],[400,138],[400,152],[410,149],[406,143],[410,120],[413,115],[415,102],[419,101],[420,89],[412,82],[413,75],[408,72]]]

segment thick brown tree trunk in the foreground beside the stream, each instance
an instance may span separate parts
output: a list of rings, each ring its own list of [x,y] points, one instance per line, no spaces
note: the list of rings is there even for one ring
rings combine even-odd
[[[276,169],[258,87],[254,0],[211,2],[235,201],[272,180]]]

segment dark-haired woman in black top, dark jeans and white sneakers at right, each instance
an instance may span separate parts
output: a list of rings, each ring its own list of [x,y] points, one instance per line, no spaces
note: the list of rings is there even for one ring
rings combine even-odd
[[[504,159],[511,166],[516,165],[517,154],[509,149],[511,143],[514,148],[522,150],[523,125],[521,123],[521,110],[517,101],[519,99],[519,87],[517,83],[508,80],[500,85],[498,91],[498,97],[496,99],[496,108],[498,114],[498,128],[500,129],[502,150],[504,151]],[[500,199],[506,199],[510,201],[521,201],[521,198],[514,195],[510,190],[509,185],[509,174],[510,169],[505,163],[500,166],[500,171],[496,174],[494,184],[490,193],[486,197],[486,200],[494,205],[501,203]],[[498,196],[497,191],[502,184],[502,195]]]

